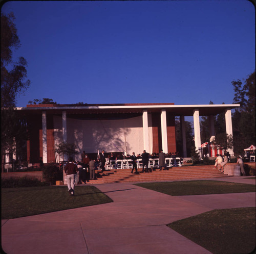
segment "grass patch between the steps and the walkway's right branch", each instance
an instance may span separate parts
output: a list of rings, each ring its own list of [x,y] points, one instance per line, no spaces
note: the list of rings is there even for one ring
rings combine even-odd
[[[255,192],[255,185],[211,180],[140,183],[135,185],[172,196]]]

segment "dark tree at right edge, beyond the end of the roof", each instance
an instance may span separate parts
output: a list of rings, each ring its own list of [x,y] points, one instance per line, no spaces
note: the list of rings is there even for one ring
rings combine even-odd
[[[234,153],[242,155],[244,148],[255,142],[255,70],[245,80],[232,81],[233,103],[240,104],[232,114]]]

